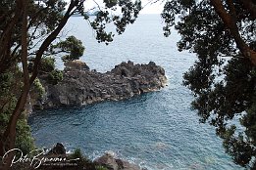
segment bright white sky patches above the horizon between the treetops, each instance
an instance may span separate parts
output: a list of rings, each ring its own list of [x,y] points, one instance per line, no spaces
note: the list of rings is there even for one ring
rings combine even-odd
[[[85,7],[87,9],[91,9],[96,5],[96,3],[99,5],[103,4],[103,0],[86,0],[85,1]],[[163,10],[164,3],[162,3],[162,0],[159,0],[159,2],[156,2],[152,4],[152,2],[155,2],[156,0],[141,0],[143,10],[140,12],[141,14],[160,14]]]

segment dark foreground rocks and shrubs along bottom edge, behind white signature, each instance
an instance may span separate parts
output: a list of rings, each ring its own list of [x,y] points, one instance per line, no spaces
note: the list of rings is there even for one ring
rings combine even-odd
[[[20,161],[13,164],[13,170],[146,170],[138,165],[128,162],[109,152],[105,152],[95,160],[89,160],[80,149],[67,152],[63,144],[57,143],[49,151],[45,149],[34,150],[35,155],[26,154]]]

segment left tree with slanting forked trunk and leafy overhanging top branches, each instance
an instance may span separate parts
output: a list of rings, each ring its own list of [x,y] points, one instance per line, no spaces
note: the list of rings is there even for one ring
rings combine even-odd
[[[99,42],[106,44],[113,40],[114,34],[106,32],[106,24],[114,22],[117,32],[125,31],[129,23],[135,21],[141,4],[130,0],[104,1],[105,8],[99,9],[95,21],[90,21],[83,6],[84,0],[3,0],[0,2],[0,74],[12,72],[18,63],[22,64],[23,86],[17,93],[17,102],[11,113],[8,125],[1,135],[0,156],[9,149],[14,149],[17,122],[25,109],[27,94],[37,77],[41,59],[50,53],[50,46],[73,14],[80,14],[90,22]],[[121,15],[111,15],[109,11],[121,8]],[[71,56],[74,52],[71,51]],[[28,58],[33,57],[33,65],[28,70]],[[10,102],[10,101],[7,101]],[[1,105],[3,105],[1,103]],[[2,112],[0,113],[2,114]],[[0,169],[9,169],[13,154],[8,154],[5,164]],[[1,166],[1,165],[0,165]]]

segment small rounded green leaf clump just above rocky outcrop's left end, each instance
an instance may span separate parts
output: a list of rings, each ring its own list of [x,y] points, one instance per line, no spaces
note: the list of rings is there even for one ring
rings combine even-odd
[[[64,62],[78,60],[84,52],[82,42],[75,36],[69,36],[65,41],[61,41],[56,45],[51,46],[51,51],[60,49],[60,52],[68,53],[62,60]]]

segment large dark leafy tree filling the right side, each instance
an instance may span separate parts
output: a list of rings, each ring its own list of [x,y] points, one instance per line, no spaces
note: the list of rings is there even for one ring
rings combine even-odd
[[[255,169],[256,1],[170,0],[162,17],[166,36],[172,26],[181,35],[179,51],[198,58],[183,76],[192,108],[216,127],[235,163]]]

